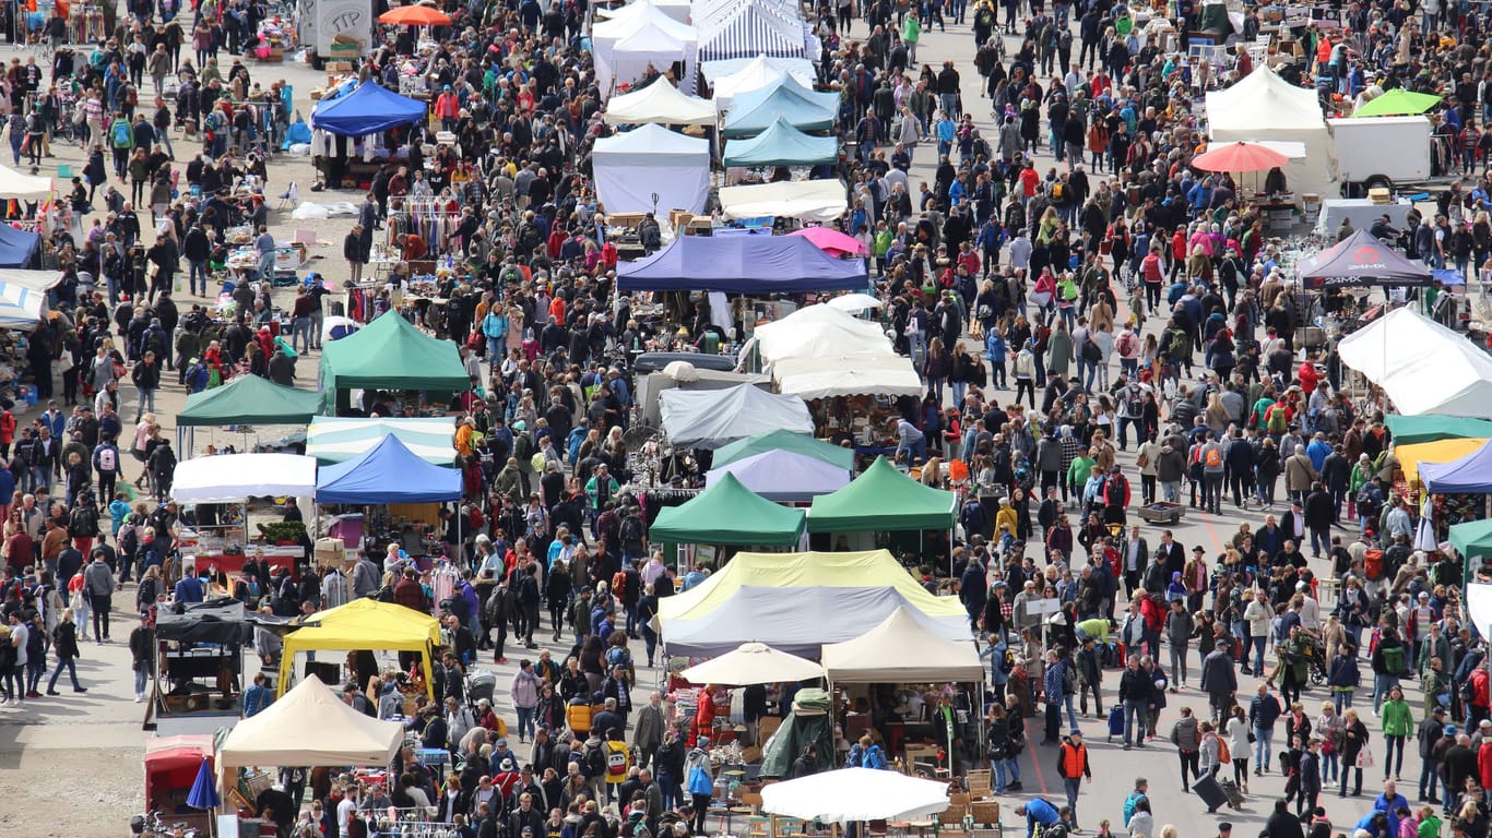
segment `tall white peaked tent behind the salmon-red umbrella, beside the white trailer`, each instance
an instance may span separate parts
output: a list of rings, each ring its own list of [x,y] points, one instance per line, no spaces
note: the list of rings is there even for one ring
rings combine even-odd
[[[1219,143],[1304,143],[1304,157],[1292,158],[1283,168],[1291,191],[1297,195],[1335,191],[1335,146],[1316,91],[1294,86],[1268,67],[1256,69],[1231,88],[1207,94],[1207,133]]]

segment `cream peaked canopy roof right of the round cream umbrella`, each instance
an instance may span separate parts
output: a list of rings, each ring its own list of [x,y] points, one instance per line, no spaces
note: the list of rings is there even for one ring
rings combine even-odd
[[[985,667],[973,640],[943,640],[904,607],[855,640],[824,644],[830,681],[940,683],[983,681]]]

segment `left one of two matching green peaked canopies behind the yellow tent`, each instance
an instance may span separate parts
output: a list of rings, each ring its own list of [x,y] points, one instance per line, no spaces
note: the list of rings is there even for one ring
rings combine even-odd
[[[689,503],[664,507],[648,535],[674,544],[786,547],[803,537],[804,511],[777,505],[725,474]]]

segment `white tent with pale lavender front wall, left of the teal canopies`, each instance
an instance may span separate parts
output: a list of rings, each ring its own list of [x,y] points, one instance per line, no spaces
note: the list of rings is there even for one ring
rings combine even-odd
[[[704,212],[710,197],[710,142],[661,125],[595,142],[595,194],[607,212]]]

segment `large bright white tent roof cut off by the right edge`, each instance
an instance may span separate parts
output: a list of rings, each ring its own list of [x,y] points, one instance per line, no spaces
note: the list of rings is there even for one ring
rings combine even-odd
[[[1341,338],[1337,355],[1383,388],[1404,416],[1492,419],[1492,356],[1413,307]]]

